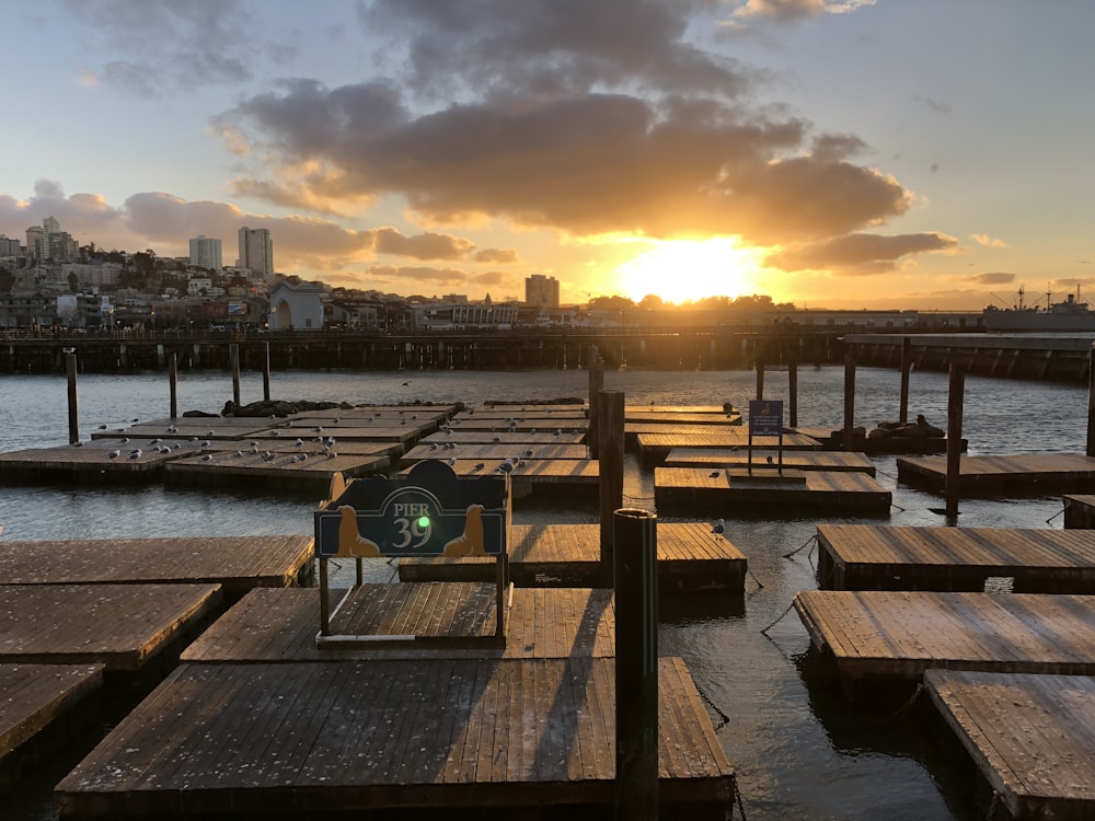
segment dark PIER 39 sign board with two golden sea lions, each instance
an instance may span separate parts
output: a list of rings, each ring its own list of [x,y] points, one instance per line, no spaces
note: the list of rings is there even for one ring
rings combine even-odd
[[[510,523],[509,476],[458,477],[426,460],[405,477],[350,482],[315,513],[315,552],[325,558],[498,556]]]

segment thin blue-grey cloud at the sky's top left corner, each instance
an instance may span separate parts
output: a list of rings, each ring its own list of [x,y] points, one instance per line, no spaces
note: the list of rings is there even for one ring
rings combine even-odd
[[[88,33],[84,55],[99,48],[125,54],[85,69],[96,84],[140,97],[189,88],[241,83],[254,65],[277,56],[291,59],[292,46],[256,36],[254,10],[241,0],[61,0],[70,19]]]

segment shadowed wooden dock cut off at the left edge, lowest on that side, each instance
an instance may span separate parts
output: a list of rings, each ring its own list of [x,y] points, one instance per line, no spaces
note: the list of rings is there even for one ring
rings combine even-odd
[[[103,664],[0,664],[0,793],[100,720]]]

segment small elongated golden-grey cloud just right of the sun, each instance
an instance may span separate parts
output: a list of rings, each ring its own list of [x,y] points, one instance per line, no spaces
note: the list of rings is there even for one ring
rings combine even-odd
[[[954,252],[958,247],[953,236],[932,232],[850,234],[770,254],[764,264],[786,271],[830,269],[839,276],[865,276],[894,270],[897,259],[908,254]]]

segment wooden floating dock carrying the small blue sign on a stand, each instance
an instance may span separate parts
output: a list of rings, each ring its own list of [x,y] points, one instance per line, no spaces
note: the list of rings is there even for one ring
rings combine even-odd
[[[716,518],[738,513],[798,516],[803,510],[887,516],[891,492],[872,476],[853,471],[754,470],[731,472],[708,467],[656,467],[654,501],[658,510],[702,509]]]

